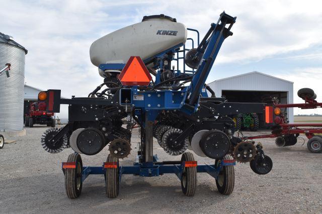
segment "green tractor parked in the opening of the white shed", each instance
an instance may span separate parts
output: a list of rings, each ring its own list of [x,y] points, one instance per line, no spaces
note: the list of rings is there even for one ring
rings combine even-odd
[[[251,131],[257,131],[260,128],[260,120],[256,113],[237,114],[232,115],[231,118],[235,122],[237,130],[250,129]]]

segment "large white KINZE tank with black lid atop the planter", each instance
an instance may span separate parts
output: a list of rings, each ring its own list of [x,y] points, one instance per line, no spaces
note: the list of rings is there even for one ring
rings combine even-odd
[[[90,48],[93,65],[126,63],[131,56],[144,61],[177,45],[185,44],[187,28],[164,15],[144,17],[142,22],[114,31]]]

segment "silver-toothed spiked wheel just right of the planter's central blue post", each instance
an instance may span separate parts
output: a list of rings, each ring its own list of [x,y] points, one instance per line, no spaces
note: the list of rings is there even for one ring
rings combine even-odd
[[[162,147],[170,155],[180,155],[184,153],[189,145],[188,137],[182,141],[175,141],[182,133],[181,129],[170,128],[162,137]]]

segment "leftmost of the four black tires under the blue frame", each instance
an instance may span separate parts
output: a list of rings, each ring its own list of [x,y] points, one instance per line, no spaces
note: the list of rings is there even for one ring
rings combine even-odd
[[[77,198],[82,193],[82,171],[83,162],[81,155],[72,153],[68,156],[67,162],[76,162],[76,168],[65,169],[65,190],[69,198]]]

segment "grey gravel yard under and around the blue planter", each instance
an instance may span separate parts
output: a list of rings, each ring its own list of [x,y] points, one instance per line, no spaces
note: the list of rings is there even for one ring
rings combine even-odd
[[[198,173],[194,197],[181,191],[175,174],[159,177],[124,175],[120,194],[106,197],[103,175],[90,175],[83,183],[82,195],[69,199],[65,194],[61,162],[72,152],[47,153],[40,145],[44,126],[26,128],[27,135],[16,137],[15,143],[0,149],[0,212],[120,212],[120,213],[322,213],[322,154],[309,153],[306,144],[277,148],[274,139],[260,140],[274,163],[267,175],[255,174],[249,164],[235,166],[235,187],[232,194],[221,195],[215,180]],[[265,132],[245,132],[245,135]],[[306,138],[305,138],[306,139]],[[135,160],[137,130],[132,135],[132,154],[122,161]],[[300,140],[299,140],[300,141]],[[156,141],[154,153],[161,160],[180,160],[170,156]],[[82,155],[84,165],[102,165],[108,154],[104,148],[95,156]],[[198,164],[214,163],[197,157]]]

